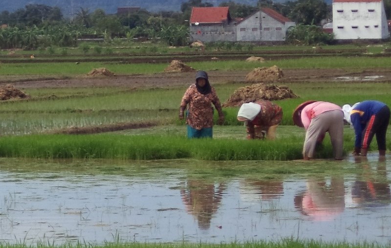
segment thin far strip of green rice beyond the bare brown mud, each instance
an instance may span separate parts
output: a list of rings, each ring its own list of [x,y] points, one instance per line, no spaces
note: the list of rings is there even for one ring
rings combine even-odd
[[[74,60],[75,58],[73,58]],[[82,57],[81,57],[82,59]],[[39,60],[39,58],[36,58]],[[256,67],[277,65],[282,69],[295,68],[346,68],[360,71],[364,68],[389,68],[387,57],[311,57],[302,59],[281,59],[259,63],[236,61],[202,61],[188,62],[197,70],[252,70]],[[115,74],[151,74],[161,73],[169,63],[107,63],[107,62],[74,62],[59,63],[2,63],[0,75],[84,75],[93,68],[106,67]]]

